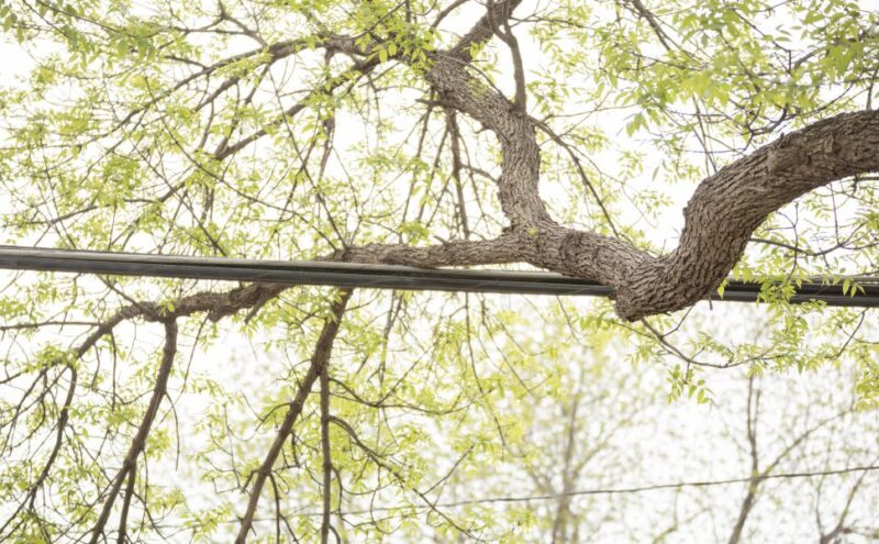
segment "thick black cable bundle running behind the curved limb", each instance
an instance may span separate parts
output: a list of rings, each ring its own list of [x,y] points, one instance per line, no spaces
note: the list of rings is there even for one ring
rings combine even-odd
[[[468,291],[516,295],[609,297],[613,289],[577,278],[542,271],[461,270],[411,266],[361,265],[320,260],[255,260],[223,257],[180,257],[137,253],[0,246],[0,268],[116,276],[259,281],[268,284],[366,287],[412,291]],[[844,295],[838,285],[820,280],[797,288],[792,302],[822,300],[836,307],[879,307],[879,278],[849,278],[859,289]],[[760,285],[728,280],[723,298],[754,302]]]

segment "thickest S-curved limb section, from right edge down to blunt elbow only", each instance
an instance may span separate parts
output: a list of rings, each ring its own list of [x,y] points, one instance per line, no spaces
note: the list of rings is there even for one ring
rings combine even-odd
[[[844,113],[793,132],[700,184],[678,247],[627,270],[617,289],[626,319],[685,308],[716,289],[766,218],[831,181],[879,170],[879,111]]]

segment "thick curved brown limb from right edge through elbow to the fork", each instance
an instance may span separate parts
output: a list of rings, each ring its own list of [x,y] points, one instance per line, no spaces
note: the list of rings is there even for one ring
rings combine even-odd
[[[687,308],[710,295],[774,211],[810,190],[879,169],[879,111],[844,113],[785,135],[703,180],[683,211],[678,247],[655,257],[617,238],[536,225],[525,260],[616,290],[627,320]]]

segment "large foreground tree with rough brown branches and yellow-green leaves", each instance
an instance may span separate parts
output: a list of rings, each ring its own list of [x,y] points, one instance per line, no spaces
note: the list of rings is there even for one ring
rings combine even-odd
[[[871,421],[874,313],[790,297],[877,274],[875,2],[4,0],[0,21],[5,243],[615,291],[9,275],[0,540],[576,541],[569,488],[548,522],[458,493],[492,466],[556,489],[542,456],[585,448],[567,482],[612,442],[578,410],[720,411],[723,370],[747,382],[737,542],[754,474],[817,433],[758,463],[759,380],[837,373],[819,429]],[[728,277],[761,302],[704,301]]]

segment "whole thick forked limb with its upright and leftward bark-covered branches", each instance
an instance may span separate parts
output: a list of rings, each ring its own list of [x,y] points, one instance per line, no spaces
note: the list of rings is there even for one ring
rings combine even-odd
[[[683,211],[678,247],[652,255],[630,243],[557,223],[539,197],[536,121],[467,70],[470,47],[492,36],[518,0],[489,4],[461,41],[433,57],[425,78],[441,101],[492,131],[501,145],[498,195],[510,225],[489,241],[432,247],[374,244],[332,258],[413,266],[524,262],[613,287],[621,318],[687,308],[711,293],[768,214],[803,193],[879,170],[879,111],[843,113],[787,134],[704,179]],[[520,76],[518,76],[520,77]]]

